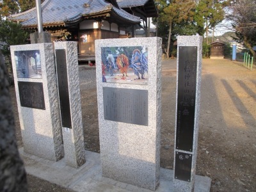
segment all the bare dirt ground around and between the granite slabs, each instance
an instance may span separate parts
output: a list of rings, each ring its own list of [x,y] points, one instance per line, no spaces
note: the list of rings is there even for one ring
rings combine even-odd
[[[95,84],[83,85],[88,75],[80,68],[81,102],[86,150],[100,152]],[[95,70],[90,70],[90,75]],[[176,60],[162,67],[161,166],[173,169]],[[84,79],[83,79],[84,78]],[[15,104],[14,88],[11,88]],[[196,174],[211,177],[211,191],[256,189],[256,70],[230,60],[203,60],[200,127]],[[17,106],[17,141],[22,147]],[[31,191],[52,191],[52,184],[29,176]],[[32,185],[33,184],[33,185]],[[37,188],[40,186],[40,188]],[[54,186],[54,191],[62,188]]]

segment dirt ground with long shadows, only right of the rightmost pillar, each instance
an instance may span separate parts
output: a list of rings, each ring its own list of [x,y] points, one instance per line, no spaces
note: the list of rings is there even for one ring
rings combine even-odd
[[[212,191],[256,189],[256,71],[242,64],[204,60],[196,173]]]

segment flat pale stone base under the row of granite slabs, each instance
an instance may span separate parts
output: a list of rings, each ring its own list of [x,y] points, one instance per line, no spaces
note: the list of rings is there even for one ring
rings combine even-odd
[[[26,154],[23,148],[19,149],[28,174],[58,184],[74,191],[144,191],[131,184],[119,182],[102,177],[100,154],[85,150],[86,163],[79,169],[71,168],[65,164],[65,157],[58,162],[48,161],[40,157]],[[159,187],[156,192],[173,192],[173,170],[160,168]],[[195,176],[195,191],[209,192],[211,179],[209,177]]]

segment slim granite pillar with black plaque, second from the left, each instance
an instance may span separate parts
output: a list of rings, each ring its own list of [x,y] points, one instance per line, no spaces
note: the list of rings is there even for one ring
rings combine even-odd
[[[54,49],[65,162],[68,166],[78,168],[85,163],[85,151],[77,43],[56,42]]]

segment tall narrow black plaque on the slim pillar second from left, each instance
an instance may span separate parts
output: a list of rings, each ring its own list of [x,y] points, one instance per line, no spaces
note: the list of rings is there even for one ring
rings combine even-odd
[[[71,129],[72,124],[68,94],[66,51],[65,49],[56,49],[55,51],[62,127],[67,127]]]

